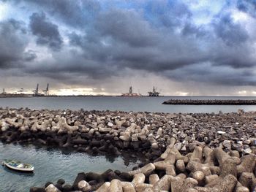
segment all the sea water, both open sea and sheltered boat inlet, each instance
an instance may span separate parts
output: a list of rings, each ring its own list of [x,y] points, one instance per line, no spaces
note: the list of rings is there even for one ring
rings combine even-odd
[[[159,96],[159,97],[121,97],[121,96],[59,96],[0,98],[0,107],[29,107],[32,110],[111,110],[125,112],[237,112],[256,110],[250,105],[165,105],[169,99],[256,99],[238,96]],[[0,161],[16,159],[35,166],[34,173],[20,173],[0,167],[0,191],[29,191],[32,186],[42,187],[48,181],[56,183],[64,179],[72,185],[79,172],[102,173],[107,169],[128,171],[138,164],[137,158],[129,156],[92,156],[50,147],[34,145],[3,144],[0,142]]]

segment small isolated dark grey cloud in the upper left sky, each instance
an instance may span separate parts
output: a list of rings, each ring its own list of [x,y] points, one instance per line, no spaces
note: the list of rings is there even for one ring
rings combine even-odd
[[[37,44],[48,45],[52,50],[60,50],[63,41],[59,28],[47,20],[44,12],[34,12],[30,16],[29,26],[32,33],[37,36]]]

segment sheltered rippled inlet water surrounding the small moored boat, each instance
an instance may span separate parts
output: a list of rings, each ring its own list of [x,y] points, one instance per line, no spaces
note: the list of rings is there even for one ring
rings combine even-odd
[[[72,185],[79,172],[99,172],[106,169],[128,171],[137,160],[105,156],[91,156],[85,153],[63,153],[60,150],[34,147],[33,145],[3,145],[0,142],[0,159],[12,158],[34,164],[34,174],[15,172],[0,166],[0,191],[29,191],[31,186],[42,187],[46,182],[56,183],[60,178]]]

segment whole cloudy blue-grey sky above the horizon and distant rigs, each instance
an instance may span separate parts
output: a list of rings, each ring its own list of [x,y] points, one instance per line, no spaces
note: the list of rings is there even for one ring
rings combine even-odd
[[[255,0],[0,0],[0,88],[256,96]]]

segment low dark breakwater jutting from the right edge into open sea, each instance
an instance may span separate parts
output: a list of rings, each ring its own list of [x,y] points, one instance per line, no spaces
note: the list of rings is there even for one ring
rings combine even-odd
[[[200,100],[200,99],[170,99],[162,104],[190,104],[190,105],[255,105],[256,100]]]

